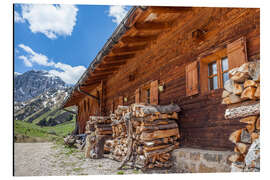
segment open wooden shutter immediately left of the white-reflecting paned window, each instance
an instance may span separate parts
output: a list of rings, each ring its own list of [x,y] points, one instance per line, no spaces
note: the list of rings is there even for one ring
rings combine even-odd
[[[195,61],[186,66],[186,95],[192,96],[198,93],[198,63]]]

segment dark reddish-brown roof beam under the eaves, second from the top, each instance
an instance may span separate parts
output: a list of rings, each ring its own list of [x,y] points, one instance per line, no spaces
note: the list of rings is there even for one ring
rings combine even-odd
[[[157,23],[157,22],[145,22],[145,23],[136,23],[135,28],[137,30],[162,30],[162,29],[168,29],[172,27],[171,22],[163,22],[163,23]]]

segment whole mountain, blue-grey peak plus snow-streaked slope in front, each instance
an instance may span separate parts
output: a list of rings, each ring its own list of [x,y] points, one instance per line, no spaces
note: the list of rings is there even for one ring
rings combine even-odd
[[[72,87],[46,71],[14,74],[14,120],[39,126],[55,126],[75,120],[75,115],[59,110]],[[74,107],[69,110],[77,111]]]

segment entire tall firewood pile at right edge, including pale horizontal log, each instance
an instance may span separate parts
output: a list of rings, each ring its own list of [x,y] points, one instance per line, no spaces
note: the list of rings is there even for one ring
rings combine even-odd
[[[245,127],[234,131],[229,140],[235,144],[229,157],[231,171],[260,170],[260,62],[245,63],[231,70],[225,83],[223,104],[228,104],[226,119],[239,119]]]

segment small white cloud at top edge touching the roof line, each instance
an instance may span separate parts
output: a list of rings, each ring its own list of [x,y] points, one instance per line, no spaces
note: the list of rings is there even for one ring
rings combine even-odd
[[[127,12],[126,6],[110,6],[109,8],[109,16],[113,17],[112,21],[116,24],[120,24]]]

